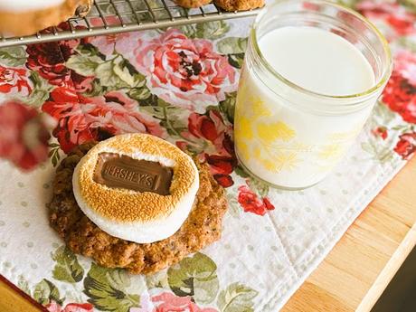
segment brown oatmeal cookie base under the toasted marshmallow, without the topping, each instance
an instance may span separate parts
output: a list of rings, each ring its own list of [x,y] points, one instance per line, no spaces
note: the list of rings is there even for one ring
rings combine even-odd
[[[75,166],[96,143],[75,148],[61,161],[53,182],[49,204],[52,228],[76,253],[108,268],[126,268],[132,273],[153,273],[184,259],[220,239],[222,217],[227,210],[224,190],[215,182],[208,165],[195,161],[200,187],[193,210],[178,232],[163,241],[135,243],[110,236],[81,212],[72,192]]]

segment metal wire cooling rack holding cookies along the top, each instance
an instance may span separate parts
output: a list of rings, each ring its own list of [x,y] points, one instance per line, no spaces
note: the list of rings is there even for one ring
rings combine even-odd
[[[86,17],[73,17],[59,27],[30,36],[0,36],[0,47],[218,21],[258,12],[226,12],[216,5],[185,9],[170,0],[95,0]]]

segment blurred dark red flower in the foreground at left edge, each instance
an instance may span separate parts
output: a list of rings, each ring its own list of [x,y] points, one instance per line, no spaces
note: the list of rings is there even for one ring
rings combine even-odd
[[[36,109],[9,101],[0,105],[0,157],[24,169],[48,158],[48,128]]]

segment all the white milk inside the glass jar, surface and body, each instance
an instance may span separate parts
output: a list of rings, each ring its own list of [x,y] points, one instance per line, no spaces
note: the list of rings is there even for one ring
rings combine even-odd
[[[357,110],[309,91],[333,97],[364,92],[375,83],[373,68],[355,45],[318,28],[277,28],[258,45],[288,81],[260,71],[248,60],[253,54],[246,55],[234,120],[237,156],[251,175],[270,184],[316,184],[354,142],[376,97]]]

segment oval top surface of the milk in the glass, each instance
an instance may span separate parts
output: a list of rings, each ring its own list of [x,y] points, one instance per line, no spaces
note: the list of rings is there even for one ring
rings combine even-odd
[[[317,93],[342,96],[373,87],[364,55],[336,33],[313,27],[283,27],[259,41],[266,61],[287,80]]]

